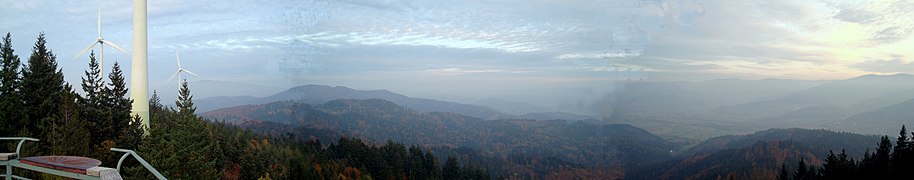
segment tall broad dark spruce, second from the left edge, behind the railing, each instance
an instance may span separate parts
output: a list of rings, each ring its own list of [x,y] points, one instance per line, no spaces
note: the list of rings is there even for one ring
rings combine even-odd
[[[44,33],[39,34],[28,65],[23,69],[20,90],[24,102],[22,109],[27,117],[25,129],[38,139],[48,138],[53,123],[50,117],[60,109],[61,95],[69,93],[64,88],[68,85],[64,82],[63,71],[57,68],[57,57],[46,43]],[[40,141],[39,150],[50,149],[47,142]]]

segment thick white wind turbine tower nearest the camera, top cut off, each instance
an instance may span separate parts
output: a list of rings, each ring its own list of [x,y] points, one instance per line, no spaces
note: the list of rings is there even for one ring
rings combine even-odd
[[[140,116],[145,134],[149,135],[149,68],[146,47],[146,0],[133,1],[133,59],[130,66],[130,115]]]

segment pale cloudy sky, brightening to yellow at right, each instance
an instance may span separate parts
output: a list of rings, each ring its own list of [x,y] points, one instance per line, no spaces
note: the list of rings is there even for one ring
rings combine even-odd
[[[0,0],[0,32],[12,33],[20,57],[44,32],[67,81],[79,84],[88,58],[73,57],[97,38],[99,10],[102,36],[131,49],[132,3]],[[190,82],[553,94],[540,101],[600,96],[625,79],[914,73],[911,0],[150,0],[148,7],[154,89],[177,85],[166,82],[176,52],[200,75]],[[128,55],[105,52],[104,67],[117,61],[129,75]]]

